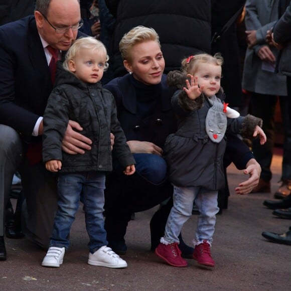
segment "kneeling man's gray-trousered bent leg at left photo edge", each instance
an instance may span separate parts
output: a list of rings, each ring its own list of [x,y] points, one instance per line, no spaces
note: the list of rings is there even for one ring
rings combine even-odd
[[[0,124],[0,260],[6,260],[4,242],[5,208],[9,199],[13,175],[21,162],[22,144],[19,134]]]

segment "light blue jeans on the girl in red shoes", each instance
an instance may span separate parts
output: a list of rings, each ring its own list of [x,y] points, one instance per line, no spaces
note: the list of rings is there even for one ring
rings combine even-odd
[[[207,240],[211,245],[216,214],[219,211],[217,194],[218,191],[210,191],[201,187],[177,187],[174,185],[174,206],[168,217],[162,241],[179,243],[178,236],[184,223],[191,217],[193,202],[195,202],[200,214],[193,243],[197,245]]]

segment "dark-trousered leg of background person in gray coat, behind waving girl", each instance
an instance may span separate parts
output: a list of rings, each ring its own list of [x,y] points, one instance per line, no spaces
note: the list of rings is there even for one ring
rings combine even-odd
[[[270,180],[272,173],[270,170],[274,149],[274,129],[275,129],[275,106],[277,97],[273,95],[264,95],[252,93],[251,95],[251,112],[252,115],[262,118],[267,141],[260,145],[259,139],[252,142],[252,151],[255,159],[260,164],[262,172],[259,184],[253,188],[252,193],[270,193]]]

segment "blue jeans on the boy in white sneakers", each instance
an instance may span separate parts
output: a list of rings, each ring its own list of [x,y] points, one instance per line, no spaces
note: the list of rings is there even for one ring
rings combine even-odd
[[[104,229],[105,173],[78,172],[60,174],[58,181],[58,210],[55,217],[50,246],[69,247],[69,234],[75,214],[79,208],[80,194],[83,196],[89,249],[94,253],[107,245]]]

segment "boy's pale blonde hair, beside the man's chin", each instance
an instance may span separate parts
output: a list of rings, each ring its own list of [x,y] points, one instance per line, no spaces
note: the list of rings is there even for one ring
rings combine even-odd
[[[107,50],[105,46],[98,40],[96,40],[93,37],[82,37],[74,41],[72,46],[69,48],[69,50],[66,53],[65,61],[63,63],[63,67],[65,70],[70,71],[69,69],[69,62],[73,60],[79,53],[81,49],[90,49],[92,51],[100,51],[101,53],[104,53],[106,55],[106,62],[104,64],[104,71],[108,69],[108,63],[109,56],[107,55]]]

